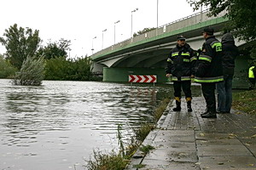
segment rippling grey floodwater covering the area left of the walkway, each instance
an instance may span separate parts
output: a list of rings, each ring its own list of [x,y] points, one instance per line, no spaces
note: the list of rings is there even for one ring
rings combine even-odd
[[[44,81],[40,87],[0,80],[0,169],[85,169],[93,150],[118,148],[117,127],[153,122],[172,87]]]

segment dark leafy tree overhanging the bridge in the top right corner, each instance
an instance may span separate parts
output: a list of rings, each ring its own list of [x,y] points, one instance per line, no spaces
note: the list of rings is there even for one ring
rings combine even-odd
[[[255,0],[187,0],[187,2],[194,6],[194,9],[199,9],[201,6],[209,7],[209,15],[216,16],[225,10],[224,17],[230,20],[224,28],[226,31],[233,31],[240,40],[247,42],[256,40]],[[251,57],[256,60],[256,45],[255,43],[250,45]]]

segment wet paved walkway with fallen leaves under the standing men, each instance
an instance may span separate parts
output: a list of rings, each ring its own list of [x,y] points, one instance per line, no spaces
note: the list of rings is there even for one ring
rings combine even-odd
[[[170,103],[148,134],[143,145],[154,146],[146,156],[137,150],[127,169],[140,170],[200,170],[200,169],[256,169],[256,116],[238,111],[218,114],[217,119],[203,119],[205,101],[192,100],[193,112],[172,111]]]

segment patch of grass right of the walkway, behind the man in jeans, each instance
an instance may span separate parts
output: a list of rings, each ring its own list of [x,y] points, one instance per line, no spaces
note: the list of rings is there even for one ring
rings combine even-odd
[[[256,115],[256,89],[233,92],[233,109]]]

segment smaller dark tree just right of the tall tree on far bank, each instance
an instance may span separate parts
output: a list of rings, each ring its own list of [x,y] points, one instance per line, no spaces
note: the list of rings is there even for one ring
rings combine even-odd
[[[59,42],[48,42],[44,48],[39,48],[38,55],[44,55],[44,59],[52,59],[56,57],[67,58],[67,50],[69,50],[70,40],[61,38]]]

